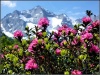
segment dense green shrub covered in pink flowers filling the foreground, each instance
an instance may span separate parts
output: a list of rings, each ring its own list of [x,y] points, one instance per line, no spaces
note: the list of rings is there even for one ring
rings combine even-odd
[[[99,71],[99,26],[90,15],[83,24],[57,32],[46,32],[49,21],[41,18],[35,30],[26,27],[27,40],[21,31],[14,33],[14,43],[1,48],[1,74],[96,74]],[[84,28],[80,28],[83,26]],[[33,33],[35,36],[31,38]],[[18,42],[16,42],[18,40]]]

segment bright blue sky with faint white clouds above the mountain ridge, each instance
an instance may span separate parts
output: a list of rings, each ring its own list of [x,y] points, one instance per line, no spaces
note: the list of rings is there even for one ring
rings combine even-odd
[[[82,18],[86,10],[99,15],[99,1],[1,1],[1,18],[14,10],[29,10],[40,5],[55,14],[67,14],[70,18]]]

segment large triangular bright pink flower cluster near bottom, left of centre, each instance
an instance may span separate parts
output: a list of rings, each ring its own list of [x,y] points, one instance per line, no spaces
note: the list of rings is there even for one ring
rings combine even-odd
[[[32,70],[32,69],[37,69],[37,68],[38,68],[38,65],[35,62],[35,60],[32,58],[25,65],[26,70]]]

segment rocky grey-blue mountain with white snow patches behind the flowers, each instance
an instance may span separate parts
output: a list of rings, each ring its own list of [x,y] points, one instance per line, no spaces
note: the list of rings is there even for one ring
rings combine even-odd
[[[73,27],[71,19],[66,14],[56,15],[41,6],[36,6],[30,10],[15,10],[12,13],[7,14],[1,20],[1,29],[7,36],[13,37],[14,31],[21,30],[24,33],[26,25],[33,27],[32,25],[36,25],[42,17],[47,17],[49,19],[49,32],[56,31],[57,27],[62,24]]]

